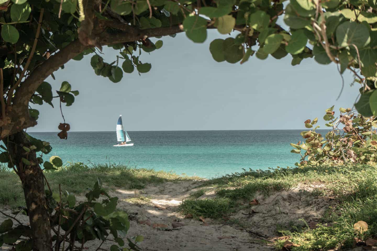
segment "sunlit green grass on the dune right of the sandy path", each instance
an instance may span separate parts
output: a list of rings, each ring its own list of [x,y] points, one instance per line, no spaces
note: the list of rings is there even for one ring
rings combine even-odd
[[[251,201],[257,192],[268,195],[276,190],[290,189],[306,183],[321,185],[313,192],[308,192],[308,198],[334,196],[337,205],[328,208],[320,219],[319,227],[314,230],[300,219],[286,226],[276,226],[277,232],[289,236],[293,243],[300,244],[299,247],[293,247],[292,251],[351,248],[354,237],[364,240],[377,239],[376,166],[359,164],[234,173],[202,184],[203,189],[208,186],[216,187],[216,198],[190,197],[180,208],[183,213],[191,213],[194,217],[220,219],[240,209],[242,205],[238,202]],[[363,234],[357,233],[353,228],[357,221],[367,222],[368,231]],[[277,248],[281,248],[284,241],[278,241]]]

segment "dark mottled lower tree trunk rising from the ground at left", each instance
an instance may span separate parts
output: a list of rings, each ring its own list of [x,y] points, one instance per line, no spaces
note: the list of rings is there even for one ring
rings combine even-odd
[[[38,164],[37,155],[33,150],[28,153],[22,148],[31,146],[23,131],[10,135],[9,140],[4,140],[4,143],[8,146],[12,163],[16,166],[22,182],[34,241],[33,250],[51,251],[50,219],[44,193],[43,173]],[[30,165],[23,163],[22,158],[29,160]]]

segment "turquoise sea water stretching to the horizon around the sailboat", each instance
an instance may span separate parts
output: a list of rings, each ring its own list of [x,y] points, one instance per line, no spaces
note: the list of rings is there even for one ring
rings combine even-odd
[[[47,157],[58,155],[64,162],[123,163],[204,178],[241,172],[243,168],[293,166],[299,155],[290,152],[290,143],[302,140],[300,130],[128,133],[134,146],[113,147],[115,132],[68,132],[67,140],[58,138],[56,132],[30,134],[51,143]]]

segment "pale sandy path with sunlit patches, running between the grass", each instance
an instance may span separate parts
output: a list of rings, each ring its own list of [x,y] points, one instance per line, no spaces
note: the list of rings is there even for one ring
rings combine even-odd
[[[311,196],[313,185],[309,185],[273,192],[269,196],[257,195],[259,205],[246,204],[244,209],[230,216],[230,219],[241,222],[242,227],[210,219],[205,219],[205,223],[196,219],[185,219],[177,207],[182,199],[197,190],[196,187],[201,182],[168,182],[159,186],[148,186],[143,190],[117,189],[111,192],[110,196],[117,196],[118,208],[129,214],[131,227],[128,236],[144,236],[139,246],[146,251],[272,251],[275,250],[271,245],[272,241],[279,236],[277,225],[288,226],[298,219],[316,221],[332,203],[328,198]],[[213,190],[207,191],[207,194],[201,198],[215,196]],[[28,221],[23,215],[17,218],[22,222]],[[0,222],[4,219],[0,216]],[[172,224],[177,222],[183,225],[174,228]],[[89,242],[86,247],[94,251],[99,243]],[[105,243],[102,247],[109,250],[112,244]]]

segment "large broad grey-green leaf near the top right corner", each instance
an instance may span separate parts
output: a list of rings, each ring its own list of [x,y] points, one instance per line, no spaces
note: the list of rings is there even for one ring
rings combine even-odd
[[[344,22],[340,24],[336,29],[336,41],[339,46],[356,45],[361,49],[370,42],[368,28],[360,23],[356,22]]]

